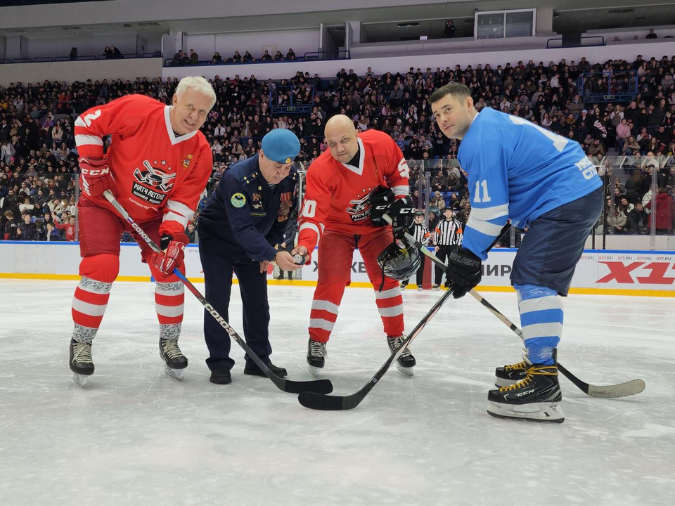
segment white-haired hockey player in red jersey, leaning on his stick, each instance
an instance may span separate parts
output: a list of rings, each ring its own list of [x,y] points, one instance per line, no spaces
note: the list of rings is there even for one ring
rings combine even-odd
[[[94,373],[91,342],[96,336],[120,270],[120,235],[129,231],[155,280],[160,323],[160,356],[167,374],[181,379],[188,365],[178,338],[183,321],[184,286],[172,272],[184,271],[185,228],[211,174],[209,143],[199,131],[216,100],[203,77],[184,77],[172,105],[129,95],[91,108],[75,121],[79,153],[77,203],[82,279],[72,299],[75,330],[70,369],[84,386]],[[110,147],[103,153],[103,137]],[[153,252],[105,199],[110,190],[143,231],[162,249]]]

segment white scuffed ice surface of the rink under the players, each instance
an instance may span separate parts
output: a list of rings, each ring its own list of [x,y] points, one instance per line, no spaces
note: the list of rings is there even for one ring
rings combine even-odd
[[[186,292],[184,382],[158,355],[153,285],[116,283],[94,340],[96,374],[72,382],[75,281],[0,281],[0,505],[672,505],[675,299],[573,295],[559,359],[586,382],[642,377],[621,399],[561,379],[563,424],[485,412],[494,368],[520,340],[470,297],[450,300],[351,411],[302,408],[266,378],[208,381],[203,311]],[[203,285],[196,285],[203,290]],[[270,286],[272,359],[309,380],[312,287]],[[484,292],[515,323],[513,293]],[[440,292],[406,291],[406,328]],[[233,289],[231,325],[241,330]],[[388,356],[371,290],[348,289],[323,377],[360,389]]]

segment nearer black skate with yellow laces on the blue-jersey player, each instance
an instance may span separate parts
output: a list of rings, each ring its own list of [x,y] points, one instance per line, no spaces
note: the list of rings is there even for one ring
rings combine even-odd
[[[487,412],[498,418],[563,423],[558,365],[531,364],[520,382],[487,394]]]

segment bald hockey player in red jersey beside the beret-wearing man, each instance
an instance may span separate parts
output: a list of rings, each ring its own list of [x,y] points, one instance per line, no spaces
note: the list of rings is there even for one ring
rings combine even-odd
[[[357,134],[352,120],[344,115],[326,122],[325,136],[329,150],[307,171],[307,191],[298,220],[300,237],[293,250],[309,261],[319,243],[319,282],[311,304],[307,350],[307,363],[314,375],[325,363],[326,342],[349,285],[356,247],[375,288],[375,303],[390,349],[397,349],[403,342],[399,283],[384,278],[377,262],[380,252],[392,244],[392,228],[373,223],[370,199],[386,187],[391,200],[395,198],[411,211],[408,164],[390,136],[376,130]],[[414,365],[415,358],[409,350],[397,363],[399,370],[408,375],[412,375]]]

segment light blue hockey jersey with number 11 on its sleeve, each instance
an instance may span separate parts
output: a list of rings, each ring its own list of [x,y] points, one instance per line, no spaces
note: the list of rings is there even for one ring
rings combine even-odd
[[[463,247],[483,260],[508,219],[525,228],[602,186],[579,143],[490,108],[473,119],[457,157],[471,199]]]

